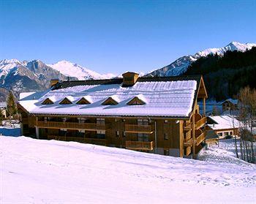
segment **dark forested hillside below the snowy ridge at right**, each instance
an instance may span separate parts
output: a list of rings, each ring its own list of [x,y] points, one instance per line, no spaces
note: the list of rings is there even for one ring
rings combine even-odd
[[[199,58],[184,75],[203,75],[210,98],[234,97],[240,88],[256,88],[256,47],[244,53],[227,51],[223,56]]]

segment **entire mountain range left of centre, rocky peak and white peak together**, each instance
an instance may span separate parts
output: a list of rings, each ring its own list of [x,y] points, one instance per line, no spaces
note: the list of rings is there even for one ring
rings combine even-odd
[[[7,90],[12,90],[16,96],[23,91],[42,91],[50,87],[50,79],[67,80],[67,77],[70,80],[91,80],[115,75],[100,75],[69,61],[48,65],[39,60],[3,59],[0,61],[0,99],[3,99],[1,93]]]

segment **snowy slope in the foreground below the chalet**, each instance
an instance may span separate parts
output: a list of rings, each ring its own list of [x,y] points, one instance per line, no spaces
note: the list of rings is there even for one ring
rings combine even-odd
[[[256,167],[229,150],[199,161],[0,136],[0,203],[255,203]]]

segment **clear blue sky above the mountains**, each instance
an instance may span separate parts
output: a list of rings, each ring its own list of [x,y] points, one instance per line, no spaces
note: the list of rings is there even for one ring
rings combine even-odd
[[[0,59],[149,71],[231,41],[256,42],[252,1],[0,0]]]

